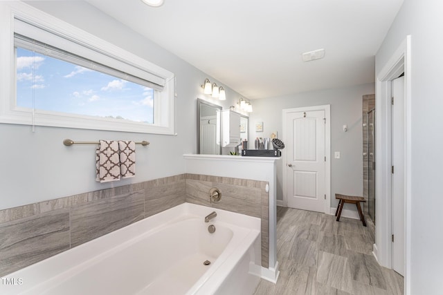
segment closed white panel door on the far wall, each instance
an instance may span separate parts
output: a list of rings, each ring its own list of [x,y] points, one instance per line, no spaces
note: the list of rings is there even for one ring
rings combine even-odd
[[[325,211],[325,111],[287,114],[287,205]]]

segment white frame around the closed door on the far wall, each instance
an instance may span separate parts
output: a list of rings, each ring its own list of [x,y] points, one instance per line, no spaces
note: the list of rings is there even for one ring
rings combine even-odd
[[[289,138],[288,130],[286,128],[286,120],[289,113],[298,113],[298,112],[308,112],[308,111],[325,111],[325,193],[326,193],[326,202],[324,213],[331,213],[331,105],[324,104],[321,106],[302,106],[300,108],[284,108],[282,111],[282,140],[283,142],[287,142]],[[287,207],[287,153],[282,153],[282,169],[283,169],[283,179],[282,179],[282,192],[283,192],[283,200],[280,204],[284,207]]]

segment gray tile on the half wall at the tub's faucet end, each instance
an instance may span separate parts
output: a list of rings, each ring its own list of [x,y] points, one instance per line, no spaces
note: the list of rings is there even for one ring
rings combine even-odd
[[[262,267],[269,267],[269,193],[268,182],[187,174],[186,202],[242,213],[262,220]],[[222,193],[220,202],[209,200],[211,187]]]

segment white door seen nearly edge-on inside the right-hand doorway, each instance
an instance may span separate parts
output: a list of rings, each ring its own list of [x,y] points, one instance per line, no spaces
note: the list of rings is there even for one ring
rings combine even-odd
[[[405,120],[404,120],[404,77],[392,80],[391,106],[391,159],[393,173],[392,194],[392,269],[404,276],[404,207],[405,207]]]

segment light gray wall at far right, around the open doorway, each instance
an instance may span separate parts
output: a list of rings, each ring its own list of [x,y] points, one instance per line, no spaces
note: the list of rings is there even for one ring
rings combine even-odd
[[[410,294],[442,292],[442,10],[442,1],[405,0],[376,55],[379,73],[411,35]]]

